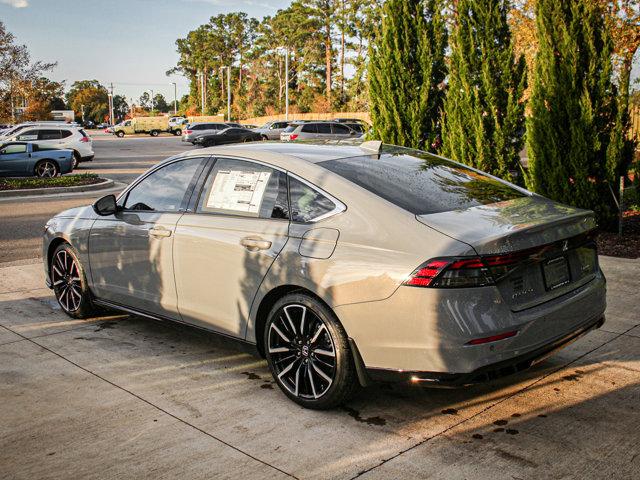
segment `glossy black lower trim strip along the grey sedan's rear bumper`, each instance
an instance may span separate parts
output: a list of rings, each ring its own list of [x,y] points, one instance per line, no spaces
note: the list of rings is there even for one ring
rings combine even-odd
[[[478,368],[469,373],[441,373],[441,372],[407,372],[402,370],[387,370],[381,368],[366,369],[369,379],[378,382],[402,382],[429,387],[456,388],[477,383],[489,382],[506,377],[514,373],[529,369],[536,363],[544,360],[554,352],[566,347],[591,330],[600,328],[605,322],[605,317],[589,320],[576,331],[554,340],[553,342],[538,347],[528,353],[518,355],[508,360],[493,363]]]

